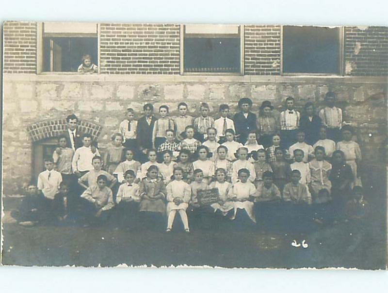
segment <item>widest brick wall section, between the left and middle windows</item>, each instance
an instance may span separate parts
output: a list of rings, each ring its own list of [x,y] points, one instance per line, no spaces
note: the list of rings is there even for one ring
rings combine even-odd
[[[179,25],[101,24],[101,73],[179,74]]]

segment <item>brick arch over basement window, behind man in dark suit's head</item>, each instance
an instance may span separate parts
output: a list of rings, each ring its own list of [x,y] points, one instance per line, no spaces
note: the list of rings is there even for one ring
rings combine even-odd
[[[81,133],[89,133],[92,135],[93,140],[96,141],[101,133],[102,127],[90,121],[78,120],[77,129],[79,129]],[[27,127],[27,131],[31,135],[32,142],[58,137],[66,130],[66,119],[43,120]]]

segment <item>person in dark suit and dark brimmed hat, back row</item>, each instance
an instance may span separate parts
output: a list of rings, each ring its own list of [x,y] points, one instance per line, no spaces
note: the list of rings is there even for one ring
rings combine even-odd
[[[250,112],[252,100],[250,98],[241,98],[239,100],[239,108],[241,112],[233,116],[234,127],[238,141],[245,144],[249,131],[256,130],[256,114]]]

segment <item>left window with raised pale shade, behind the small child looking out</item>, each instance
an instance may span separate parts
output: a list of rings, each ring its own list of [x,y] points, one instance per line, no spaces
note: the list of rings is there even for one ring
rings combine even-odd
[[[43,24],[43,71],[77,72],[83,55],[98,65],[96,23]]]

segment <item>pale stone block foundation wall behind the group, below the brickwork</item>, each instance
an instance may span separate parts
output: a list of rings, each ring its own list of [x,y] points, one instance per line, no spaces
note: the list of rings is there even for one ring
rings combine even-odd
[[[170,107],[185,101],[192,115],[199,104],[208,102],[217,116],[221,103],[237,111],[237,101],[252,98],[258,113],[263,100],[281,110],[284,99],[293,96],[302,109],[306,101],[322,107],[327,91],[337,93],[344,119],[353,123],[362,148],[364,162],[380,164],[385,159],[387,139],[387,80],[372,77],[190,77],[190,76],[74,76],[5,74],[3,99],[3,187],[15,193],[32,176],[32,139],[27,131],[33,123],[65,118],[75,113],[82,120],[102,126],[98,145],[101,151],[131,107],[140,117],[143,105],[151,102]]]

